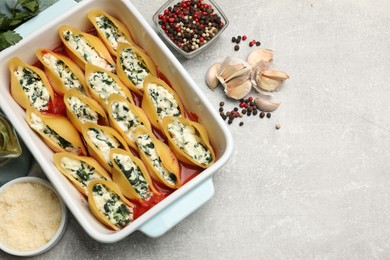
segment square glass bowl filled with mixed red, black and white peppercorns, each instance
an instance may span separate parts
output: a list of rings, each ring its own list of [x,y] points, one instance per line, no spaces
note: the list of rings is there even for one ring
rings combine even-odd
[[[229,25],[213,0],[170,0],[153,20],[167,45],[187,59],[209,47]]]

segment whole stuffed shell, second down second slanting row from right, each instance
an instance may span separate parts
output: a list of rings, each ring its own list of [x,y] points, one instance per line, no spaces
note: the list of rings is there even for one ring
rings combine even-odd
[[[119,94],[134,104],[130,90],[114,73],[98,66],[87,64],[85,78],[89,93],[103,108],[106,109],[108,99],[113,94]]]

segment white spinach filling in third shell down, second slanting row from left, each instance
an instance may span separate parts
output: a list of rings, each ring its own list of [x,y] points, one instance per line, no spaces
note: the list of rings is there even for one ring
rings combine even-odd
[[[114,136],[104,133],[99,128],[89,128],[87,131],[89,140],[102,153],[104,160],[112,167],[110,162],[110,149],[119,148],[120,142]]]

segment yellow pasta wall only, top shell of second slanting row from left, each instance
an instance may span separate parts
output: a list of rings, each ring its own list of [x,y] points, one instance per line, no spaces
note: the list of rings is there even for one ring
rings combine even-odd
[[[81,89],[79,91],[86,93],[86,85],[85,85],[85,78],[83,71],[77,66],[77,64],[69,59],[68,57],[55,53],[50,50],[45,49],[38,49],[35,52],[35,55],[38,57],[39,61],[43,64],[45,73],[47,77],[49,78],[50,83],[52,84],[53,89],[60,94],[61,96],[64,95],[65,91],[68,90],[68,87],[65,86],[64,81],[61,79],[61,77],[55,72],[55,68],[50,66],[50,64],[46,63],[43,59],[43,56],[49,54],[53,57],[55,57],[57,60],[62,61],[69,70],[76,76],[77,80],[81,84]]]

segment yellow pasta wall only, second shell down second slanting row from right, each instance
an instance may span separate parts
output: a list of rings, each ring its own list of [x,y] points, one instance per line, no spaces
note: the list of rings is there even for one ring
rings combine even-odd
[[[107,74],[110,78],[112,78],[115,83],[119,86],[119,88],[121,89],[121,91],[123,91],[123,93],[125,94],[125,97],[126,99],[134,104],[134,100],[133,100],[133,96],[130,92],[130,90],[123,84],[123,82],[118,78],[117,75],[115,75],[114,73],[111,73],[109,72],[108,70],[105,70],[105,69],[102,69],[98,66],[95,66],[95,65],[92,65],[92,64],[87,64],[86,67],[85,67],[85,80],[86,80],[86,83],[87,83],[87,86],[88,86],[88,92],[90,93],[90,95],[97,101],[99,102],[99,104],[107,111],[107,102],[108,102],[108,98],[107,98],[107,101],[104,100],[100,95],[99,93],[93,89],[92,85],[91,85],[91,82],[89,81],[89,77],[91,76],[91,74],[93,73],[96,73],[96,72],[102,72],[102,73],[105,73]]]

